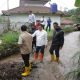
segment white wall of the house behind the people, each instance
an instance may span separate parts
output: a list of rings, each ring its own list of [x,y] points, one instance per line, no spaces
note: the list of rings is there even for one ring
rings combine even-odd
[[[52,20],[52,24],[53,24],[53,22],[58,22],[58,24],[60,25],[60,16],[51,15],[51,14],[43,14],[43,15],[35,14],[35,15],[36,15],[36,20],[40,20],[41,17],[44,16],[45,24],[46,24],[47,18],[50,17]],[[28,22],[28,14],[14,14],[14,15],[11,15],[9,18],[10,18],[11,28],[15,28],[16,26],[17,26],[17,28],[19,28],[21,25]],[[52,26],[52,24],[51,24],[51,26]]]

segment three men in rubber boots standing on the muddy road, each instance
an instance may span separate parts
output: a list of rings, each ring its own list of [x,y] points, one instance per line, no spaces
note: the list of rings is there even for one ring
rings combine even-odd
[[[31,16],[29,16],[31,17]],[[33,22],[31,25],[33,26]],[[51,62],[54,61],[54,51],[56,55],[56,62],[59,63],[59,50],[63,47],[64,44],[64,32],[58,26],[58,23],[53,23],[54,33],[52,38],[52,43],[49,49],[51,55]],[[18,45],[20,46],[22,59],[25,64],[25,70],[21,74],[22,76],[27,76],[30,74],[31,65],[29,63],[30,53],[32,53],[32,41],[33,37],[36,37],[36,50],[34,52],[34,61],[43,62],[44,50],[47,48],[47,32],[43,29],[43,25],[39,23],[38,28],[32,34],[27,32],[27,26],[21,26],[21,34],[19,36]]]

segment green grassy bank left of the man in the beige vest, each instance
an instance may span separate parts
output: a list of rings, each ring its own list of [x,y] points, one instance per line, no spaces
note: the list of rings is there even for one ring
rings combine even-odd
[[[0,40],[2,40],[2,44],[0,44],[0,59],[19,52],[18,37],[19,33],[13,31],[6,32],[0,36]]]

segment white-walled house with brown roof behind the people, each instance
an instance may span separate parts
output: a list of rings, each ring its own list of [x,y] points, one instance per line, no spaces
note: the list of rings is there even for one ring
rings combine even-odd
[[[20,27],[21,24],[28,22],[29,11],[32,11],[36,15],[36,20],[40,20],[42,16],[47,20],[48,17],[51,18],[52,23],[58,22],[60,25],[61,16],[64,15],[63,12],[57,11],[56,13],[51,13],[49,7],[44,6],[49,0],[20,0],[19,7],[2,11],[4,16],[9,16],[11,26]]]

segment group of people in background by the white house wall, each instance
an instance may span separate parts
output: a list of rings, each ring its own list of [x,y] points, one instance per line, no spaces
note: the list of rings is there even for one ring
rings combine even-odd
[[[46,31],[49,29],[49,31],[51,31],[51,22],[52,21],[51,21],[50,17],[48,17],[48,19],[45,20],[44,16],[42,16],[41,19],[36,20],[35,14],[33,14],[32,11],[29,12],[28,23],[30,24],[29,26],[32,29],[33,28],[37,29],[38,23],[41,23],[43,26],[43,29],[46,29]],[[45,28],[45,26],[46,26],[46,28]]]

